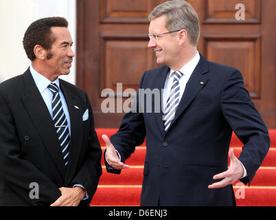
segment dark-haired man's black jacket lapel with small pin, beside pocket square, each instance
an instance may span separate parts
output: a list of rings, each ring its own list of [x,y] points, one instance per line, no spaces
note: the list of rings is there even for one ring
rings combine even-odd
[[[81,108],[78,97],[71,93],[71,89],[62,80],[60,80],[60,89],[62,90],[62,94],[65,96],[65,100],[67,102],[71,124],[69,162],[67,164],[65,177],[65,186],[67,186],[67,184],[71,182],[78,164],[82,144],[82,113],[84,113],[86,109]]]

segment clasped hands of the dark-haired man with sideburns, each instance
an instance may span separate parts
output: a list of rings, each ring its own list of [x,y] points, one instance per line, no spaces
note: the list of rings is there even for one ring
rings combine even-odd
[[[85,196],[85,190],[79,186],[74,188],[61,187],[61,196],[51,206],[78,206]]]

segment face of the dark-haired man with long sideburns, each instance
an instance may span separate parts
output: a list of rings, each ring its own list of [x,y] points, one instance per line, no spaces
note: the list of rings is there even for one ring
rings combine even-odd
[[[51,45],[51,50],[47,51],[47,67],[53,76],[67,75],[75,56],[71,50],[73,44],[71,34],[63,27],[52,27],[51,32],[56,41]]]

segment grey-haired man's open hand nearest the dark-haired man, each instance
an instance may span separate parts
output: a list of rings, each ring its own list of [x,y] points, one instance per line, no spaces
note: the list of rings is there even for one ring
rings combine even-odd
[[[104,142],[106,142],[106,160],[108,164],[117,170],[129,168],[128,165],[119,160],[115,147],[113,146],[113,144],[111,144],[111,141],[109,140],[107,135],[103,134],[102,139],[104,140]]]

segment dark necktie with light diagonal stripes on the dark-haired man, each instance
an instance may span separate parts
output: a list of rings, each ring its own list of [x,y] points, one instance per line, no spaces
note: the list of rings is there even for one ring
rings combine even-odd
[[[53,93],[51,100],[53,121],[56,127],[56,133],[58,133],[58,140],[62,150],[62,157],[65,160],[65,166],[67,166],[70,144],[69,126],[66,120],[65,112],[62,109],[58,86],[55,83],[51,83],[48,88]]]

